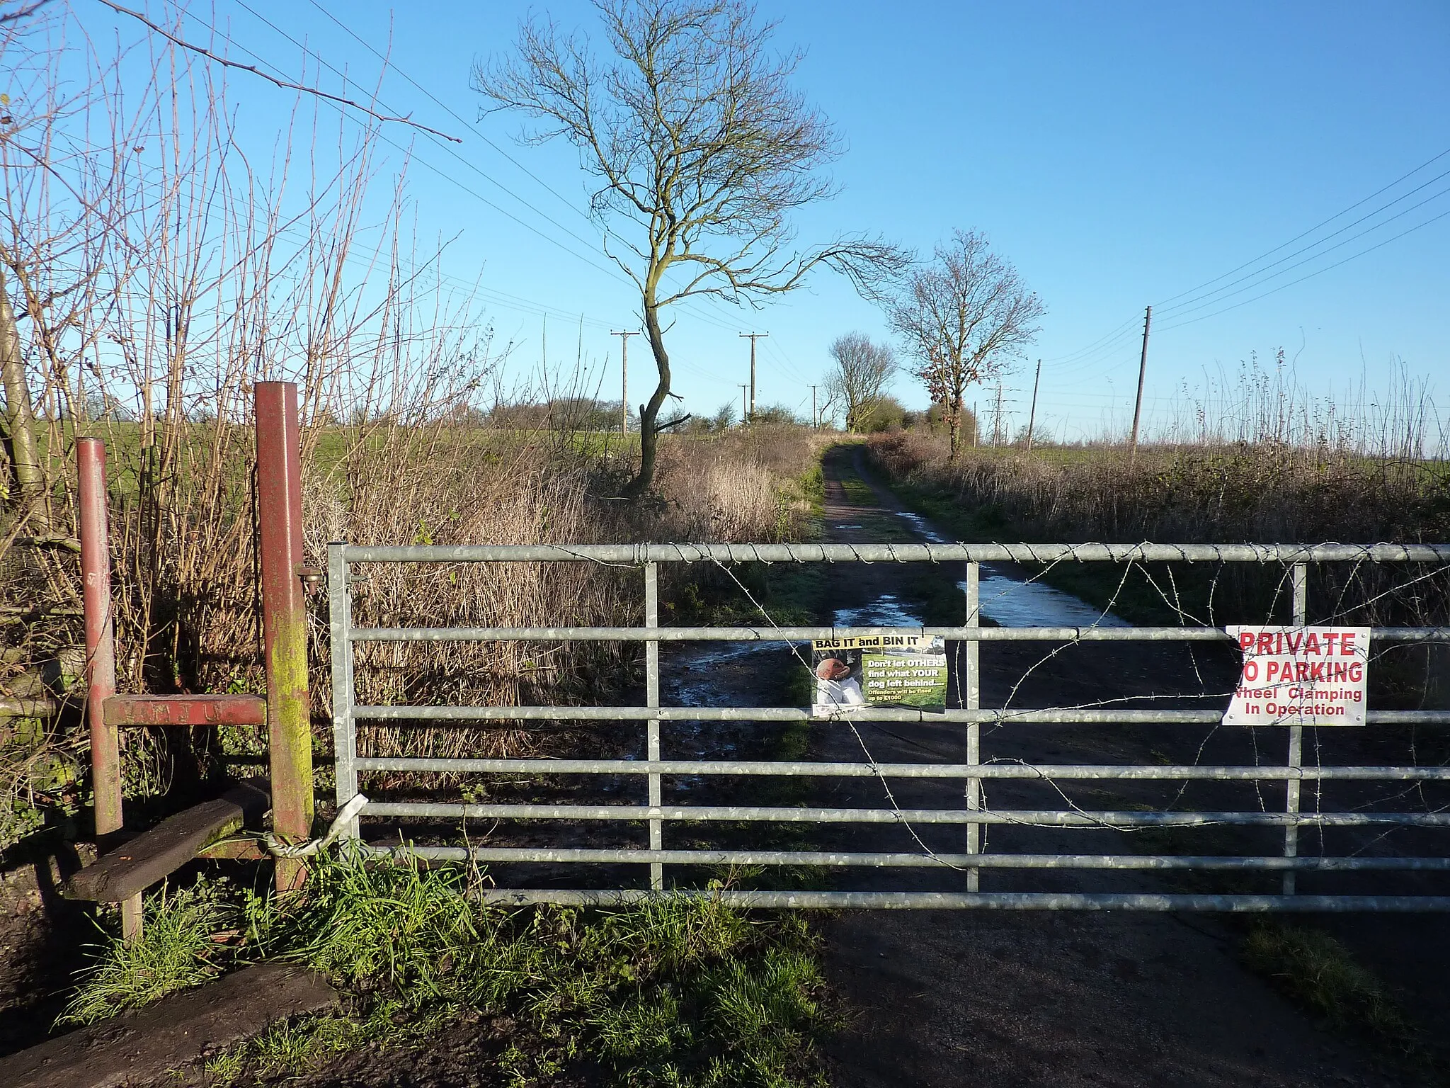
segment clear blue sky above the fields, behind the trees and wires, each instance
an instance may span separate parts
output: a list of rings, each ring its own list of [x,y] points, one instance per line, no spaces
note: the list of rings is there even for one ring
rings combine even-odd
[[[481,284],[499,339],[515,342],[510,366],[519,376],[538,363],[547,312],[551,357],[573,360],[581,331],[593,366],[609,367],[602,395],[618,396],[618,339],[608,332],[638,326],[638,300],[608,271],[599,234],[581,215],[576,154],[563,144],[516,145],[516,122],[478,122],[480,102],[468,88],[474,59],[508,51],[531,7],[566,26],[597,29],[589,4],[319,1],[246,0],[357,80],[368,83],[380,70],[367,45],[390,52],[383,102],[464,138],[454,157],[402,126],[387,133],[413,149],[419,231],[455,238],[445,267]],[[339,87],[238,0],[216,0],[212,10],[233,57],[251,52],[293,77],[306,71]],[[1209,284],[1222,289],[1222,297],[1205,300],[1214,305],[1199,306],[1202,292],[1193,292],[1450,151],[1450,6],[1440,0],[782,3],[761,13],[780,20],[782,46],[808,51],[799,87],[848,148],[834,167],[840,196],[798,219],[802,239],[864,231],[927,251],[953,228],[982,229],[1047,303],[1038,348],[1006,379],[1015,422],[1025,419],[1041,357],[1038,416],[1050,432],[1077,438],[1124,428],[1148,303],[1156,308],[1150,424],[1166,421],[1172,397],[1202,387],[1205,374],[1280,347],[1315,395],[1362,377],[1380,384],[1401,358],[1444,399],[1450,216],[1428,221],[1450,212],[1450,176],[1433,180],[1450,171],[1450,154],[1318,234]],[[203,15],[199,7],[197,19]],[[231,81],[245,87],[244,125],[261,138],[274,118],[283,123],[293,100],[248,78]],[[400,161],[392,154],[383,168]],[[1354,257],[1411,228],[1420,229]],[[1337,242],[1346,244],[1328,248]],[[1282,276],[1237,283],[1290,254],[1267,270]],[[1354,260],[1256,297],[1346,257]],[[1172,309],[1183,293],[1189,305],[1180,297]],[[835,335],[886,337],[880,313],[829,273],[757,312],[693,306],[668,338],[689,411],[738,403],[748,344],[737,334],[750,329],[770,334],[761,341],[761,402],[796,409],[809,405],[809,384],[821,380]],[[647,367],[637,339],[634,403],[648,393]],[[914,406],[925,402],[906,376],[896,393]]]

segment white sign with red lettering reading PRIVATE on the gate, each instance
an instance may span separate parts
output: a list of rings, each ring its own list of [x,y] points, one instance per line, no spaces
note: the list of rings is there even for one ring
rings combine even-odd
[[[1244,651],[1225,725],[1363,725],[1367,627],[1230,627]]]

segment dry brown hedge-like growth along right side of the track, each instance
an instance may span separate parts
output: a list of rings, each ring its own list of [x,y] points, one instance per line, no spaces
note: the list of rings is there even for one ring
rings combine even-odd
[[[964,450],[922,432],[879,435],[873,461],[896,482],[974,511],[1025,541],[1376,543],[1450,540],[1450,470],[1443,461],[1366,457],[1280,442]],[[1219,599],[1263,609],[1282,598],[1280,572],[1234,570]],[[1395,589],[1399,586],[1399,589]],[[1325,564],[1311,601],[1341,619],[1444,622],[1444,572]],[[1282,605],[1282,601],[1280,601]],[[1322,606],[1322,605],[1321,605]],[[1312,611],[1312,609],[1311,609]]]

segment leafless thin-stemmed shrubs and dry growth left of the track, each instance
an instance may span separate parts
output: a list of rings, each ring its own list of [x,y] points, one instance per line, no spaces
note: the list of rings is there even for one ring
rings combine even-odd
[[[626,516],[594,498],[610,471],[600,457],[608,445],[581,440],[577,413],[526,434],[484,425],[496,367],[487,326],[467,294],[445,287],[436,254],[413,245],[403,178],[380,178],[371,129],[339,128],[329,155],[312,113],[319,104],[303,97],[268,171],[233,144],[226,86],[204,59],[155,36],[104,54],[80,30],[61,4],[23,28],[0,26],[16,99],[0,122],[0,267],[17,315],[6,379],[17,379],[33,405],[39,476],[20,486],[12,442],[0,595],[6,619],[23,612],[39,622],[0,628],[14,666],[14,676],[0,676],[0,696],[81,641],[72,553],[9,547],[17,535],[75,534],[77,434],[107,445],[122,688],[262,689],[258,380],[299,386],[313,561],[335,538],[725,538],[789,524],[771,487],[792,456],[764,438],[700,458],[680,445],[671,470],[687,493]],[[309,154],[291,154],[297,148]],[[561,405],[596,395],[567,374],[544,384]],[[809,444],[792,448],[809,457]],[[712,454],[748,454],[750,464],[732,476],[706,463]],[[358,588],[357,611],[360,622],[389,625],[609,624],[641,614],[631,572],[586,564],[378,567]],[[328,738],[326,640],[318,634],[315,714]],[[358,693],[380,702],[599,698],[631,683],[631,654],[610,646],[373,647]],[[77,672],[71,662],[68,676]],[[62,695],[64,677],[46,691]],[[81,757],[77,724],[74,712],[45,722],[25,766],[48,767],[30,759],[42,750]],[[489,735],[489,750],[532,743]],[[206,770],[204,751],[170,751],[160,731],[128,731],[126,740],[128,796],[162,792],[181,765]],[[260,738],[236,743],[255,749]],[[483,741],[477,731],[438,730],[377,733],[367,743],[445,753]],[[38,773],[0,789],[33,791]],[[75,802],[74,776],[62,789]],[[9,837],[0,828],[0,843]]]

